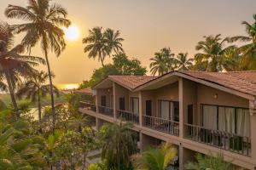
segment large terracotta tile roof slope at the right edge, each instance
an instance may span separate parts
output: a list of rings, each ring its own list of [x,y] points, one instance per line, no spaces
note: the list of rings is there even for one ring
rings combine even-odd
[[[256,96],[256,71],[178,71],[190,77],[216,83],[226,88],[235,89],[245,94]]]

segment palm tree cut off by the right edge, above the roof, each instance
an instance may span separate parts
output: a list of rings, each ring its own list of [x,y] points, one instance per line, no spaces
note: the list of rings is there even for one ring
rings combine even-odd
[[[230,42],[247,42],[239,48],[242,55],[242,65],[247,67],[247,70],[256,69],[256,14],[253,14],[253,24],[247,21],[242,21],[241,24],[246,27],[247,36],[231,37]]]

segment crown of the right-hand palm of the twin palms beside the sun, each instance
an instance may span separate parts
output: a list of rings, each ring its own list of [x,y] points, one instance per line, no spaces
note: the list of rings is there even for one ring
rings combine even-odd
[[[122,48],[122,42],[124,41],[124,38],[121,38],[119,36],[120,36],[119,31],[113,31],[110,28],[104,31],[104,37],[108,44],[109,54],[111,54],[112,51],[115,54],[119,54],[119,52],[124,53],[124,49]]]

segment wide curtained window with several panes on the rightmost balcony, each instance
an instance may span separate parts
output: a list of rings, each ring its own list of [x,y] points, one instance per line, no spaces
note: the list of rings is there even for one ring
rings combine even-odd
[[[201,115],[202,127],[250,136],[250,117],[246,108],[202,105]]]

